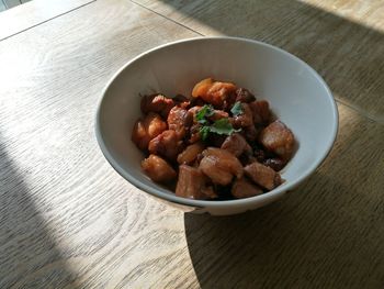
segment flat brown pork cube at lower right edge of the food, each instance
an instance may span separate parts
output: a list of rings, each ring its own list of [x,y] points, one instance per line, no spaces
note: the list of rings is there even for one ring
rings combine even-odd
[[[273,190],[283,182],[279,173],[257,162],[246,166],[244,171],[252,181],[268,190]]]

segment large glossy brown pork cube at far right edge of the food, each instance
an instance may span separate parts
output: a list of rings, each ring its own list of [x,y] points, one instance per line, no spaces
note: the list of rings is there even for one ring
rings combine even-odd
[[[274,121],[261,131],[259,142],[268,151],[273,152],[283,160],[287,160],[292,156],[295,138],[284,123]]]

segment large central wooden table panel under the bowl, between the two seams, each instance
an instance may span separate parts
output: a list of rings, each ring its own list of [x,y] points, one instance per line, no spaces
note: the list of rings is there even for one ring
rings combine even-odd
[[[383,288],[384,125],[341,103],[327,160],[255,212],[183,214],[106,164],[109,78],[195,35],[98,0],[0,42],[0,288]]]

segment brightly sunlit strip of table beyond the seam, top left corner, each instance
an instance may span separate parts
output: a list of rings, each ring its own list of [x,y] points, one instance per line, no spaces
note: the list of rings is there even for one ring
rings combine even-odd
[[[33,0],[1,13],[0,41],[95,0]]]

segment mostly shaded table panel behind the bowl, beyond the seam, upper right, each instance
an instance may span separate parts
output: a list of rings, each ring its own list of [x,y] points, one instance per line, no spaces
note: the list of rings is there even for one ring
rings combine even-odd
[[[313,66],[338,100],[384,123],[382,0],[134,0],[204,35],[249,37]]]

